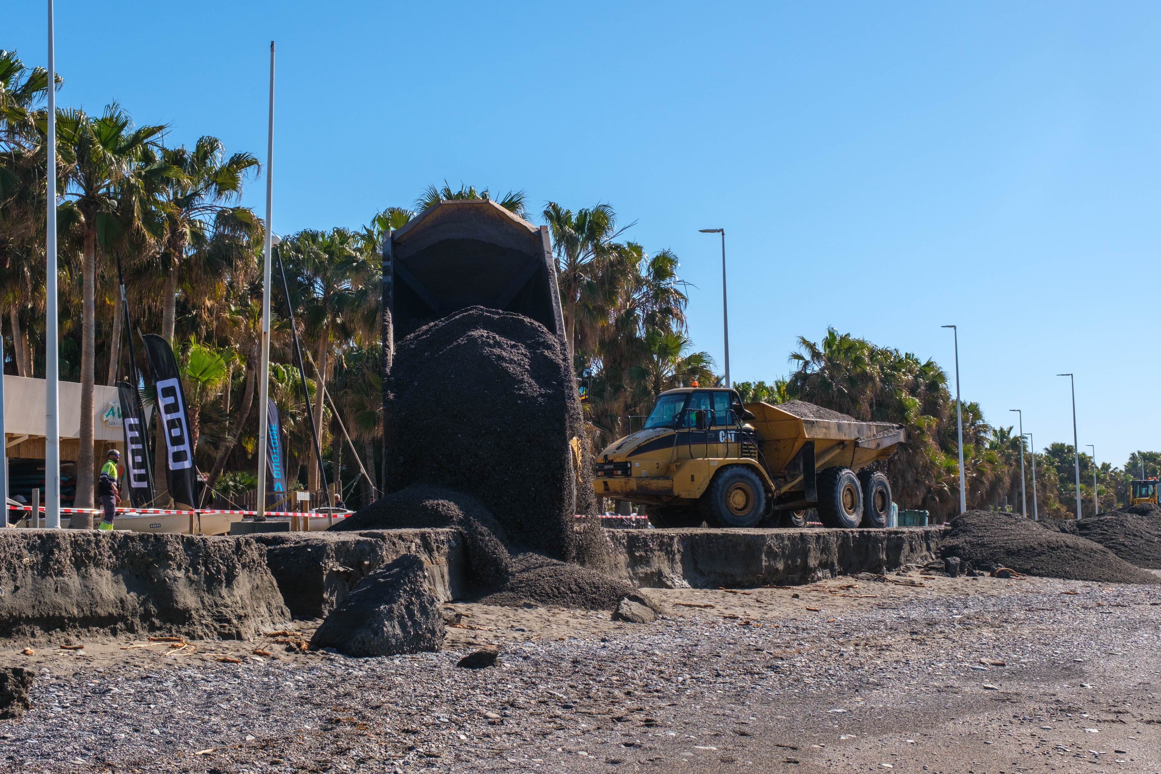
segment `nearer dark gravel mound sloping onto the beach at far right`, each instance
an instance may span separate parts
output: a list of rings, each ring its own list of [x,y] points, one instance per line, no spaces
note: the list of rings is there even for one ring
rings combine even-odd
[[[1110,584],[1156,584],[1158,578],[1090,540],[1045,529],[1023,516],[968,511],[951,522],[940,543],[944,557],[976,569],[994,564],[1029,576]]]

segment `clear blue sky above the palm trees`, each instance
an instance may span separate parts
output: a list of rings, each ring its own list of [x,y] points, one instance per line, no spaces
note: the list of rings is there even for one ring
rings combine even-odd
[[[42,2],[0,46],[45,63]],[[533,211],[610,202],[682,259],[698,348],[785,375],[828,325],[952,369],[1038,447],[1156,449],[1153,2],[57,3],[60,103],[265,161],[279,232],[358,226],[447,179]],[[246,203],[264,207],[255,181]]]

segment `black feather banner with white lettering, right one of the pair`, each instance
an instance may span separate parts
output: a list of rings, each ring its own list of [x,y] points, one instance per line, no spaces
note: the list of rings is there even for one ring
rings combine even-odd
[[[153,389],[163,435],[165,435],[165,469],[168,472],[170,495],[175,502],[193,506],[194,497],[194,449],[189,435],[189,415],[186,413],[186,393],[181,389],[178,361],[168,342],[154,333],[142,337],[145,354],[153,374]],[[157,454],[163,454],[157,449]]]

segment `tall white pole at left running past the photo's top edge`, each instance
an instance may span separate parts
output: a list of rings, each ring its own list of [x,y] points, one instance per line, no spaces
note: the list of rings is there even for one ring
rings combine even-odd
[[[44,526],[60,528],[60,427],[57,381],[57,66],[52,32],[52,0],[49,0],[49,196],[45,239],[44,309]],[[33,519],[38,514],[33,513]],[[33,521],[33,526],[38,526]]]

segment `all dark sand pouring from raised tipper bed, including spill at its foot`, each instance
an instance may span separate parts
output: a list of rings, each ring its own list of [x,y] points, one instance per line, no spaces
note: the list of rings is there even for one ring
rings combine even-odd
[[[399,342],[392,493],[334,530],[456,527],[483,601],[613,609],[634,587],[591,569],[607,551],[591,514],[584,421],[561,341],[539,323],[470,308]],[[578,464],[582,463],[582,464]],[[578,564],[579,563],[579,564]]]

